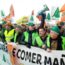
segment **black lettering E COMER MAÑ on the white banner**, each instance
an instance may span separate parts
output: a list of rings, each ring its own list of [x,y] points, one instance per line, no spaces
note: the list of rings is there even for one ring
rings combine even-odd
[[[13,49],[13,56],[21,60],[29,61],[29,63],[35,63],[39,65],[65,65],[64,54],[61,55],[60,59],[59,58],[52,59],[52,57],[44,56],[44,60],[42,62],[41,54],[32,53],[21,49],[18,49],[16,53],[15,51],[16,48]]]

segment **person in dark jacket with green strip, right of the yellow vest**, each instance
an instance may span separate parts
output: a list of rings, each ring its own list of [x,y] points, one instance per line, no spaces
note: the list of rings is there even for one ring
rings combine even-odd
[[[15,33],[14,33],[14,42],[19,43],[21,42],[21,36],[22,36],[22,27],[20,25],[16,25],[14,27]]]

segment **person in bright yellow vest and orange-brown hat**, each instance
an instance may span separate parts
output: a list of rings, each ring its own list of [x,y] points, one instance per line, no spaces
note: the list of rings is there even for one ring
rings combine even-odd
[[[13,38],[14,38],[14,29],[11,23],[6,23],[4,25],[5,27],[5,31],[4,31],[4,39],[5,42],[13,42]]]

